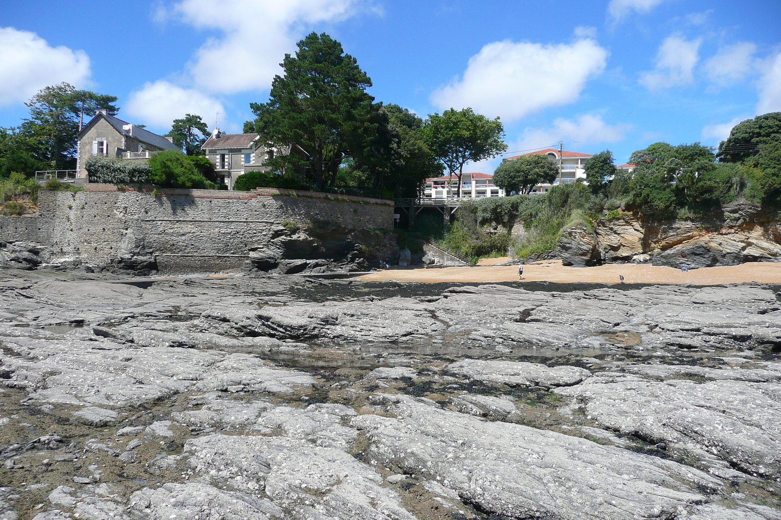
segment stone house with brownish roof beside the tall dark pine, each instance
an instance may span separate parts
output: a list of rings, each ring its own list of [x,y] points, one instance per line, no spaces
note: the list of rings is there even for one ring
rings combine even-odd
[[[268,172],[266,160],[273,159],[280,149],[264,143],[256,133],[222,133],[214,129],[201,150],[214,163],[217,179],[228,189],[234,189],[239,175],[247,172]]]

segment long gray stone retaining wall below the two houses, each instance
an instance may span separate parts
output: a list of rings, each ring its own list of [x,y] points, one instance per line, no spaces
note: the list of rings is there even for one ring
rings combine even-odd
[[[117,189],[41,190],[35,217],[3,217],[0,241],[40,242],[51,258],[106,264],[136,251],[157,256],[161,272],[241,267],[251,247],[269,242],[284,221],[329,221],[352,230],[393,228],[393,203],[285,189],[250,192]]]

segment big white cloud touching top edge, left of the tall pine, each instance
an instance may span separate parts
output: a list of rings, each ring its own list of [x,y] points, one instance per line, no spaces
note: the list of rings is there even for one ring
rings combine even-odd
[[[295,51],[303,26],[353,15],[362,0],[182,0],[166,11],[198,29],[216,29],[189,65],[204,90],[236,94],[263,90],[281,72],[286,52]],[[160,19],[159,13],[155,17]]]

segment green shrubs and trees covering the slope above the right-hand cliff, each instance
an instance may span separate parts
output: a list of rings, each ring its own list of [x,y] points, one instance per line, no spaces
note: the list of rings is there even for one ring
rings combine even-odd
[[[531,177],[550,178],[534,176],[527,162],[506,161],[494,174],[498,186],[521,194],[462,205],[455,222],[437,230],[438,238],[475,260],[508,252],[533,258],[554,249],[567,229],[591,229],[599,218],[718,217],[735,200],[775,210],[781,207],[781,112],[736,125],[718,150],[701,143],[653,143],[629,157],[630,171],[615,168],[612,153],[604,150],[586,162],[587,182],[554,186],[544,194],[523,194],[533,186]],[[523,229],[514,240],[511,230],[519,223]]]

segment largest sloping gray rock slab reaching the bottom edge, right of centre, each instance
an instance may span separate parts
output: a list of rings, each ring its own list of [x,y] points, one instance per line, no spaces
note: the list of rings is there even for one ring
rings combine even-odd
[[[719,479],[660,458],[512,423],[484,422],[393,394],[397,419],[357,416],[367,453],[509,518],[663,518],[708,501]]]

